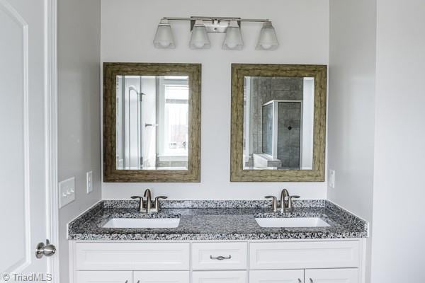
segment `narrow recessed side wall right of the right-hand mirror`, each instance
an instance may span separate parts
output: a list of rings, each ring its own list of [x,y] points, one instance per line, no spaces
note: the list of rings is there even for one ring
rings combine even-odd
[[[373,206],[375,33],[375,0],[330,1],[328,168],[336,178],[328,198],[367,221]]]

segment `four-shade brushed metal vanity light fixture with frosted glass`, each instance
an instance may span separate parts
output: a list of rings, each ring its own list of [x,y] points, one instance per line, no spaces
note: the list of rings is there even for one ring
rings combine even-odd
[[[208,38],[208,33],[226,33],[222,49],[242,50],[244,47],[241,33],[242,22],[263,23],[256,50],[276,50],[279,46],[276,31],[271,21],[268,19],[192,16],[191,18],[162,18],[154,38],[154,46],[156,48],[175,48],[169,21],[191,22],[191,40],[189,42],[189,47],[191,47],[191,49],[210,48],[211,43]]]

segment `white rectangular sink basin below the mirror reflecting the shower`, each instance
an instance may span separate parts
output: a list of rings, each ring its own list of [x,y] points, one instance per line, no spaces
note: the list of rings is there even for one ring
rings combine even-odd
[[[261,227],[329,227],[325,221],[313,217],[300,218],[256,218]]]

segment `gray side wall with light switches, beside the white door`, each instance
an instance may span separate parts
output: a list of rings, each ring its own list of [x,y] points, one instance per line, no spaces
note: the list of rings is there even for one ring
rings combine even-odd
[[[58,1],[59,180],[75,176],[76,200],[60,209],[60,279],[69,282],[67,223],[101,198],[100,0]],[[86,171],[94,191],[86,194]]]

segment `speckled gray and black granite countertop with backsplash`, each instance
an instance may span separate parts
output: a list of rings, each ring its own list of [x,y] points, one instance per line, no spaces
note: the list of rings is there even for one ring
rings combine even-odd
[[[365,238],[368,223],[327,200],[294,200],[292,212],[270,200],[164,200],[159,213],[137,211],[135,200],[102,200],[68,224],[72,241],[199,241]],[[328,227],[262,228],[255,218],[319,217]],[[112,218],[180,218],[177,228],[103,228]]]

